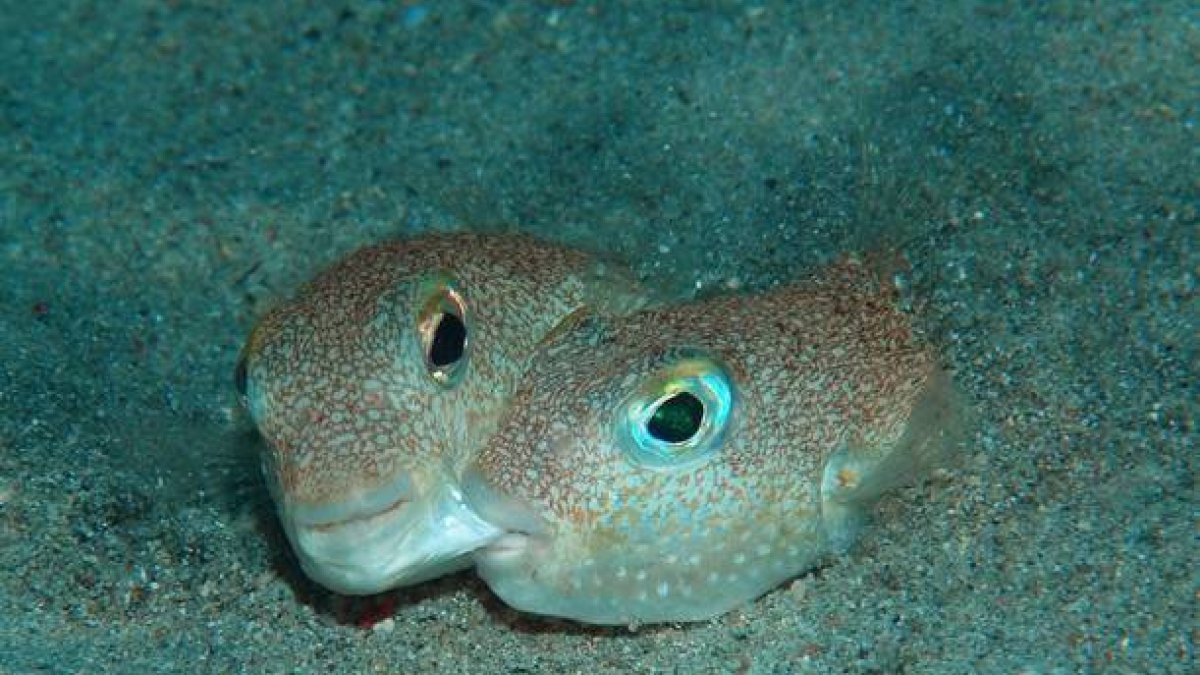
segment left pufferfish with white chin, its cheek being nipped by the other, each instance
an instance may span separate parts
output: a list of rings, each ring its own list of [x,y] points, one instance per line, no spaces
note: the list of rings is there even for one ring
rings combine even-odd
[[[497,534],[460,474],[535,346],[642,295],[622,268],[522,235],[426,235],[343,258],[270,311],[236,369],[304,572],[367,595],[469,566]]]

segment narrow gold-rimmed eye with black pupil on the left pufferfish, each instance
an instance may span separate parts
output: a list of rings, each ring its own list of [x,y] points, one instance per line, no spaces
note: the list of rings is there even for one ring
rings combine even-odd
[[[421,309],[416,316],[425,370],[443,387],[452,387],[467,370],[470,329],[461,285],[449,274],[421,283]]]

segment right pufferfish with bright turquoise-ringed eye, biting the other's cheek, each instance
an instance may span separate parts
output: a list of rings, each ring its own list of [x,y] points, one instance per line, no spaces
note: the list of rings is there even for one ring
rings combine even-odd
[[[587,623],[719,615],[845,550],[882,492],[942,464],[958,401],[853,259],[584,318],[547,339],[464,474],[506,531],[478,572],[516,609]]]

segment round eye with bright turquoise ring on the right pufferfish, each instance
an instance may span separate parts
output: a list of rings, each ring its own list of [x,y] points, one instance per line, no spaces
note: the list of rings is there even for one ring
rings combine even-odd
[[[728,371],[712,358],[689,354],[650,377],[618,408],[618,442],[640,466],[692,466],[720,449],[733,406]]]

